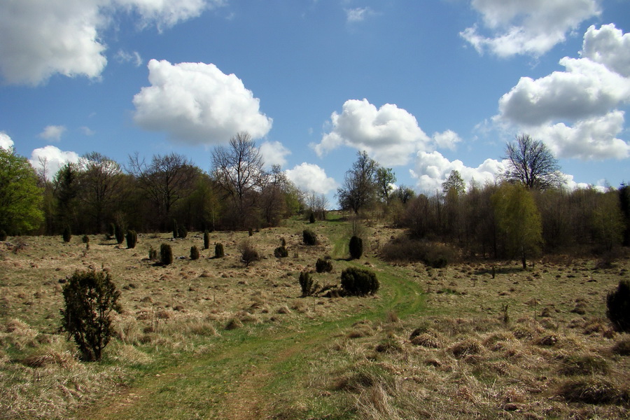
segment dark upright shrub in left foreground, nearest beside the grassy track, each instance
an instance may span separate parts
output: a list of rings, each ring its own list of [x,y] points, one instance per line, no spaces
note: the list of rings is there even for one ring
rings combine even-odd
[[[83,360],[100,360],[114,334],[111,311],[120,311],[120,292],[106,272],[75,272],[63,289],[62,328],[74,338]]]

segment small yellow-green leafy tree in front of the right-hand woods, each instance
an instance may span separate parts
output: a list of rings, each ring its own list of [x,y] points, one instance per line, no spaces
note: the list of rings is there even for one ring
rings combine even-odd
[[[491,200],[508,251],[519,255],[526,269],[527,258],[538,253],[542,244],[542,222],[533,196],[521,184],[505,183]]]

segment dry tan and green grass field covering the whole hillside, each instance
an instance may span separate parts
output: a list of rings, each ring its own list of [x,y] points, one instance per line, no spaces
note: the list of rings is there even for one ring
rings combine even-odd
[[[304,246],[302,230],[320,244]],[[627,255],[596,260],[390,265],[374,225],[347,260],[349,226],[217,232],[225,258],[186,239],[142,234],[134,249],[90,237],[0,244],[1,419],[621,419],[630,415],[630,337],[612,330],[605,296],[630,276]],[[274,258],[284,238],[288,258]],[[263,256],[245,267],[237,246]],[[18,241],[25,246],[13,252]],[[148,260],[169,243],[176,260]],[[300,297],[317,258],[339,283],[351,265],[377,273],[370,297]],[[117,334],[99,363],[59,333],[64,280],[106,269],[122,292]]]

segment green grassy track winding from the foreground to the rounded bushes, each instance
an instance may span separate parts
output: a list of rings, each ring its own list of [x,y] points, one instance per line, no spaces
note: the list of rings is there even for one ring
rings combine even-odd
[[[379,271],[379,262],[377,271]],[[335,335],[363,319],[382,321],[389,311],[405,318],[421,309],[416,283],[392,267],[379,271],[378,298],[360,313],[330,321],[300,321],[270,329],[223,333],[207,353],[165,360],[120,393],[110,395],[81,412],[76,419],[262,419],[277,405],[299,401],[295,389],[307,375],[309,360],[325,349]],[[280,402],[278,402],[280,400]]]

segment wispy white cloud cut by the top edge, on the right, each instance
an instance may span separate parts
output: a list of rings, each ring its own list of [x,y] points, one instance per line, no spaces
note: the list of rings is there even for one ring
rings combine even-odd
[[[472,0],[488,35],[474,25],[460,35],[477,52],[539,57],[565,41],[581,22],[601,13],[598,0]]]

